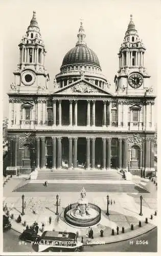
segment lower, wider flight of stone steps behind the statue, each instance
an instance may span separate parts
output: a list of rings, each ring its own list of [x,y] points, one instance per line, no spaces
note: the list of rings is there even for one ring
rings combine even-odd
[[[13,192],[79,192],[82,187],[86,192],[106,192],[106,193],[149,193],[145,188],[136,184],[103,184],[103,183],[49,183],[47,187],[44,183],[27,183],[17,187]]]

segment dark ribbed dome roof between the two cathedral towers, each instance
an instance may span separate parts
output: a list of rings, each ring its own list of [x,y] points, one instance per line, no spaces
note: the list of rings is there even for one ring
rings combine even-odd
[[[62,66],[79,62],[93,64],[95,66],[97,65],[100,68],[99,59],[96,53],[83,44],[76,45],[76,47],[72,48],[65,54]]]

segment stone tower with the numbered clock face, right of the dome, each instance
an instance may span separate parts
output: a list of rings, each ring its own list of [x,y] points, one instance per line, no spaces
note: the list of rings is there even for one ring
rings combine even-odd
[[[114,77],[117,95],[143,96],[150,90],[150,76],[144,66],[145,51],[130,15],[130,23],[118,53],[118,75]]]

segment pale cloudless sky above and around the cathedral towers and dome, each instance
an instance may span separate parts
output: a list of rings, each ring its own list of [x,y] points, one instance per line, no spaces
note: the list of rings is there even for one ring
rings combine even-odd
[[[157,0],[4,0],[3,20],[3,115],[8,116],[10,84],[19,60],[18,44],[25,35],[33,11],[40,28],[47,55],[45,68],[51,81],[60,72],[66,52],[77,42],[80,19],[86,33],[87,46],[97,54],[102,73],[114,88],[114,76],[119,67],[118,52],[123,42],[130,14],[147,49],[145,67],[151,75],[150,84],[157,94],[158,31],[160,2]],[[53,84],[51,83],[50,89]]]

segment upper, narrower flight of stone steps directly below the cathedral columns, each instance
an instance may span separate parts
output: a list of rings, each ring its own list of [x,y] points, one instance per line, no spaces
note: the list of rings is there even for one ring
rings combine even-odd
[[[39,170],[38,180],[122,180],[116,170]]]

